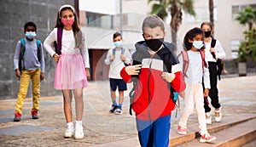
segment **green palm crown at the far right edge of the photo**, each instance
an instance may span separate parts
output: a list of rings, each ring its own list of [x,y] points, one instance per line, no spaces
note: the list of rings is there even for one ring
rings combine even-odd
[[[253,23],[256,23],[256,9],[252,7],[247,7],[243,11],[238,13],[236,20],[240,22],[241,25],[248,25],[249,30],[252,30]]]

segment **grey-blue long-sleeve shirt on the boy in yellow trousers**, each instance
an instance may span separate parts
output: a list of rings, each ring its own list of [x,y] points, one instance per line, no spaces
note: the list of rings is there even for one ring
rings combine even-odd
[[[41,52],[40,61],[38,60],[38,44],[36,39],[33,39],[33,41],[28,41],[25,38],[25,48],[26,51],[24,54],[24,64],[22,65],[22,68],[24,67],[27,71],[37,70],[38,68],[41,68],[41,72],[44,73],[44,49],[42,43],[39,47]],[[20,51],[21,42],[19,41],[16,45],[16,51],[14,56],[15,70],[19,68]]]

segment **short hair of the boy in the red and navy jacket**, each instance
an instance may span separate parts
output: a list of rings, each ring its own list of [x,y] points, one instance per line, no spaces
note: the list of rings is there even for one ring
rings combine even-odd
[[[165,31],[164,21],[162,19],[160,19],[160,17],[157,15],[148,15],[143,20],[143,32],[145,31],[146,27],[150,27],[153,29],[157,26],[160,26],[161,30]]]

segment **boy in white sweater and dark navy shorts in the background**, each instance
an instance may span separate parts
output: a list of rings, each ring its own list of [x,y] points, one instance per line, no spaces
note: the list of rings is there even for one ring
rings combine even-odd
[[[105,59],[105,64],[110,65],[109,68],[109,83],[111,90],[111,100],[112,100],[112,108],[109,110],[110,113],[114,113],[116,115],[120,115],[123,113],[122,105],[124,102],[124,92],[127,90],[126,82],[120,76],[120,71],[125,64],[128,65],[131,59],[131,54],[129,50],[123,48],[123,39],[119,32],[113,34],[113,45],[115,48],[111,48],[108,50],[107,57]],[[119,88],[119,104],[116,102],[115,91],[116,88]]]

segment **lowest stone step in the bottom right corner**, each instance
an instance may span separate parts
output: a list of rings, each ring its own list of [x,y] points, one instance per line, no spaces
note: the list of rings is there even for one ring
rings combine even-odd
[[[253,119],[212,133],[211,135],[217,137],[212,143],[200,143],[200,138],[197,138],[190,142],[178,144],[175,147],[239,147],[256,139],[255,124],[256,119]]]

